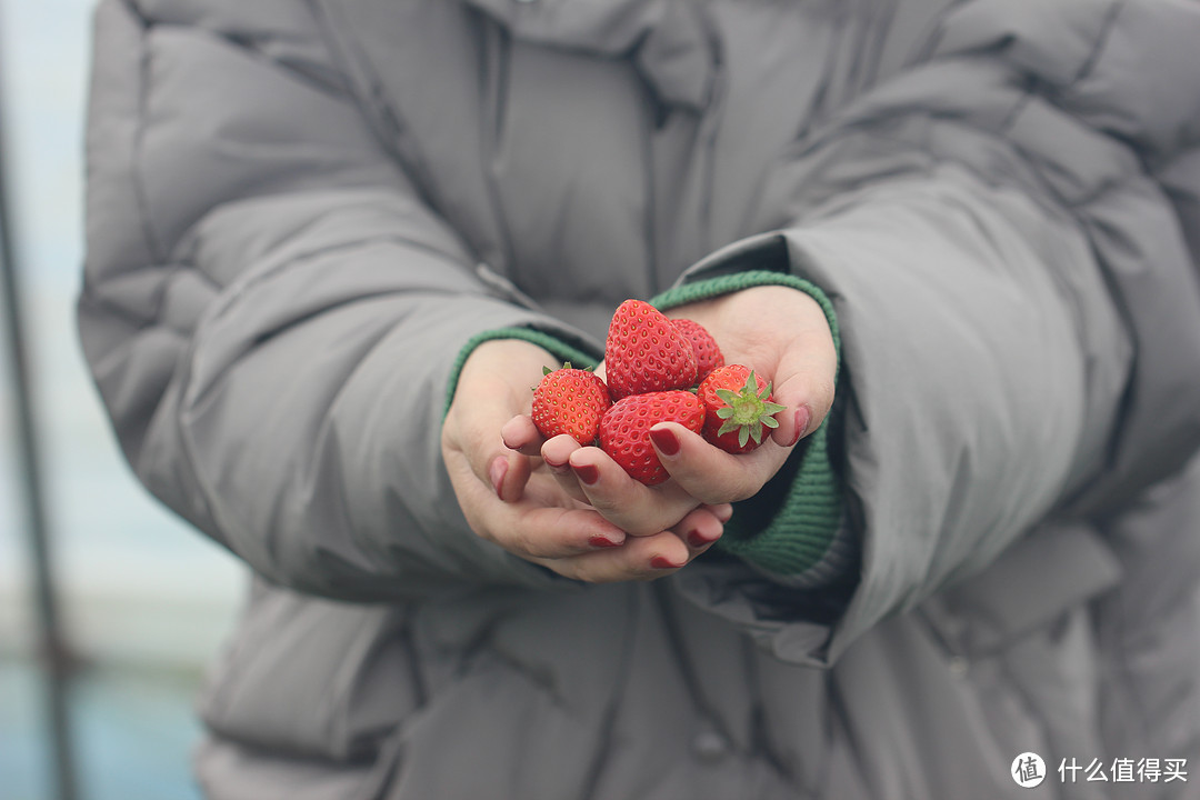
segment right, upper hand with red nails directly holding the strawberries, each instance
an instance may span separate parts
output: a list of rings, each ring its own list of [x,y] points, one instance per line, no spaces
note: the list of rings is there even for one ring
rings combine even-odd
[[[806,294],[755,287],[680,306],[667,315],[702,324],[720,344],[726,363],[743,363],[760,380],[772,381],[775,402],[787,408],[757,450],[734,456],[682,425],[659,423],[650,428],[652,443],[671,480],[648,487],[599,447],[581,447],[570,437],[542,441],[528,417],[510,420],[504,428],[510,447],[538,452],[546,463],[559,465],[565,492],[634,534],[660,528],[690,509],[724,507],[754,497],[833,404],[836,350],[824,313]]]

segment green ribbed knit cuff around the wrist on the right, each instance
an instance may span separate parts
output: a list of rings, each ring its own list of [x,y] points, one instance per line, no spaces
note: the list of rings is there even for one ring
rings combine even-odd
[[[784,272],[749,270],[673,287],[652,299],[660,309],[708,300],[756,285],[798,289],[824,311],[841,360],[833,303],[812,283]],[[841,525],[842,486],[829,458],[829,417],[802,443],[799,464],[790,465],[755,498],[737,504],[715,547],[776,575],[797,576],[826,557]],[[782,485],[791,475],[791,483]]]

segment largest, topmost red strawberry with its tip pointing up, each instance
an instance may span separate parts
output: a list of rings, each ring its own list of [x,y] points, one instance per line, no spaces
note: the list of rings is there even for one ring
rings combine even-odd
[[[662,312],[626,300],[608,323],[605,371],[613,399],[629,395],[688,389],[696,383],[691,343]]]

